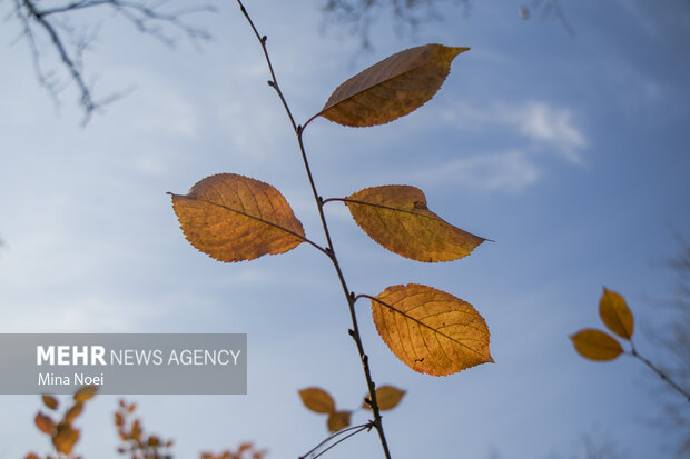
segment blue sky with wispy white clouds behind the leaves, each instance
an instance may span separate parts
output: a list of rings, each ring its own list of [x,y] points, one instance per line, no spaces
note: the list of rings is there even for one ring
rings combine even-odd
[[[672,232],[688,237],[690,223],[690,6],[564,1],[569,37],[558,21],[520,20],[516,1],[475,1],[469,17],[448,4],[445,20],[413,37],[383,18],[374,50],[358,56],[355,38],[321,32],[318,3],[286,3],[247,7],[299,121],[401,49],[472,48],[417,112],[372,129],[316,120],[305,134],[324,197],[417,186],[446,221],[496,241],[452,263],[417,263],[371,241],[342,204],[327,208],[356,292],[426,283],[474,305],[492,333],[495,365],[422,376],[357,305],[374,379],[407,390],[384,419],[394,457],[570,459],[582,457],[583,435],[627,458],[672,457],[677,435],[653,426],[657,381],[629,358],[581,359],[568,335],[600,327],[602,286],[627,297],[640,351],[655,356],[648,338],[670,319],[658,299],[671,295],[672,276],[660,265],[678,250]],[[70,89],[56,110],[38,86],[26,43],[12,44],[17,24],[0,28],[0,331],[247,332],[248,396],[132,399],[145,426],[176,439],[177,457],[243,440],[297,457],[326,435],[297,390],[321,386],[354,408],[364,378],[337,279],[318,252],[303,245],[223,265],[181,236],[165,192],[235,172],[275,186],[307,236],[323,240],[248,26],[233,2],[199,23],[215,37],[200,51],[103,20],[87,54],[97,93],[135,89],[86,129]],[[0,458],[45,451],[31,421],[38,397],[1,399]],[[82,456],[116,457],[116,401],[89,406]],[[374,435],[359,435],[327,457],[378,452]]]

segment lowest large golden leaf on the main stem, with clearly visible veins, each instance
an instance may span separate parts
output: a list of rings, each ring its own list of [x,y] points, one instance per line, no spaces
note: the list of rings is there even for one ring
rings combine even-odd
[[[415,371],[446,376],[493,362],[482,316],[442,290],[416,283],[388,287],[372,299],[372,313],[381,338]]]

